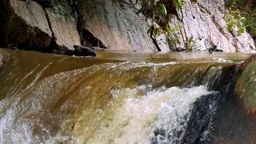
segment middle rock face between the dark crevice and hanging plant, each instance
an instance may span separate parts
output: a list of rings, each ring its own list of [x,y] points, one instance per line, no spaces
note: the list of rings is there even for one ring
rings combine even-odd
[[[136,15],[141,6],[135,3],[135,0],[79,0],[82,28],[111,51],[157,51],[147,34],[146,19],[142,14]]]

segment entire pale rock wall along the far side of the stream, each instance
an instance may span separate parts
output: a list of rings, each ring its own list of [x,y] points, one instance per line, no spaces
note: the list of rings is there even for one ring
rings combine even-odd
[[[223,52],[256,52],[248,33],[236,37],[228,32],[224,0],[184,1],[181,10],[167,9],[171,27],[181,26],[176,37],[161,34],[153,42],[147,34],[150,23],[136,15],[141,8],[136,0],[2,0],[0,46],[74,55],[74,45],[82,42],[109,51],[168,52],[184,49],[193,37],[200,51],[214,46]]]

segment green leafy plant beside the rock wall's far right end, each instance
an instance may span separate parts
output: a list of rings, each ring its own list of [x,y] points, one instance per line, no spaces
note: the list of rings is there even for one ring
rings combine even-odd
[[[235,1],[234,1],[235,4]],[[229,7],[229,12],[225,16],[226,26],[228,27],[228,31],[234,35],[241,35],[246,32],[246,18],[241,16],[240,10],[237,9],[236,6],[231,5]]]

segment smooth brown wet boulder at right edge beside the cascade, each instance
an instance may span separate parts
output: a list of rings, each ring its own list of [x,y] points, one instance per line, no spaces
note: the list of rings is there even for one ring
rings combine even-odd
[[[254,54],[240,67],[234,65],[234,74],[223,71],[226,76],[221,83],[228,80],[231,83],[228,87],[222,85],[216,89],[222,89],[222,100],[216,111],[210,142],[207,143],[255,143],[252,139],[256,135],[255,59]]]

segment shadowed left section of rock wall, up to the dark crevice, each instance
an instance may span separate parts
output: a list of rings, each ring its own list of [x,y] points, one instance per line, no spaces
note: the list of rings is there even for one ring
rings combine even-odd
[[[4,0],[0,4],[0,45],[66,55],[73,55],[73,46],[80,45],[70,1]]]

